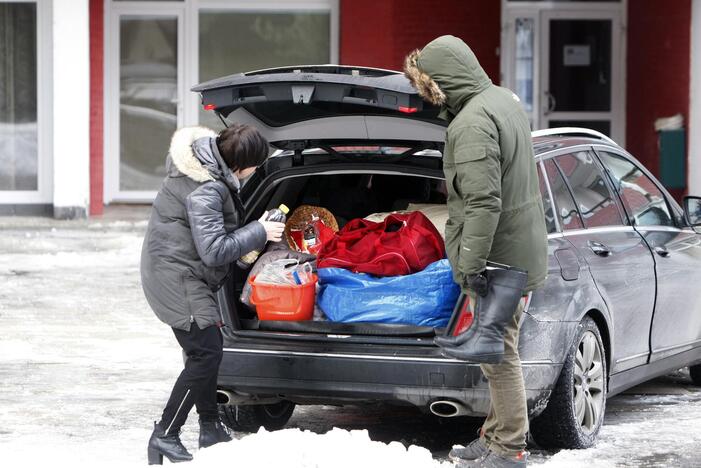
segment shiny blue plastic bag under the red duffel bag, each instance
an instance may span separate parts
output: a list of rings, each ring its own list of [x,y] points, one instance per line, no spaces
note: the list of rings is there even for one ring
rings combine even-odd
[[[447,259],[406,276],[378,278],[320,268],[317,304],[334,322],[379,322],[444,327],[460,295]]]

